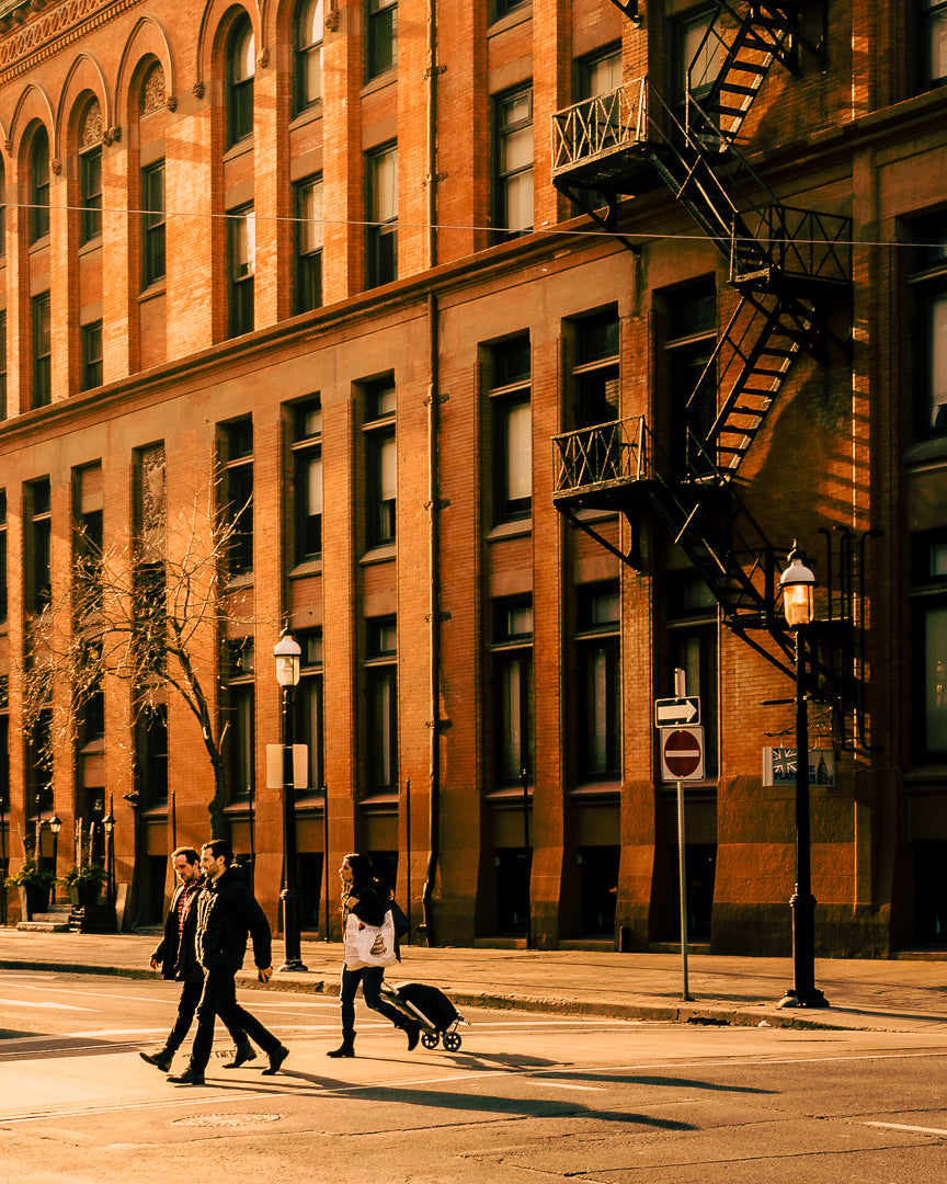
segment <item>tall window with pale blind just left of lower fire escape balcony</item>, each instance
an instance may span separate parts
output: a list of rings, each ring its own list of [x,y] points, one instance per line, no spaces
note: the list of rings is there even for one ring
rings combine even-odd
[[[533,411],[529,401],[529,337],[490,350],[490,416],[494,446],[494,525],[533,511]]]

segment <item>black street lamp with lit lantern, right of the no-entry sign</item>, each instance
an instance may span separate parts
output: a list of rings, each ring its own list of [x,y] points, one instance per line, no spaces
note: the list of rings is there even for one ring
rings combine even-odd
[[[812,625],[816,577],[803,562],[795,543],[780,577],[782,609],[795,635],[795,892],[792,908],[793,985],[780,1008],[827,1008],[816,986],[816,897],[812,895],[812,841],[809,819],[809,704],[806,703],[806,641]]]

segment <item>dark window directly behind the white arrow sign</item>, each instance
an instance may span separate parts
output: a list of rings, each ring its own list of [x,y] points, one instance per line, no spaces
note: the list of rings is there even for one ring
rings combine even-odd
[[[674,686],[674,671],[683,670],[688,695],[701,699],[704,729],[704,773],[717,771],[717,603],[698,575],[674,572],[668,575],[668,674],[664,684]]]

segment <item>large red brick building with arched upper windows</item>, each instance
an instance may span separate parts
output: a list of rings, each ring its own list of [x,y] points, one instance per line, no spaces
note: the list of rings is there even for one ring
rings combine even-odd
[[[690,937],[787,952],[798,540],[818,948],[942,940],[945,44],[934,0],[6,0],[8,868],[110,810],[153,922],[213,799],[276,916],[288,623],[305,928],[357,849],[439,944],[674,940],[683,670]],[[202,719],[117,665],[31,715],[88,540],[140,614],[219,575]]]

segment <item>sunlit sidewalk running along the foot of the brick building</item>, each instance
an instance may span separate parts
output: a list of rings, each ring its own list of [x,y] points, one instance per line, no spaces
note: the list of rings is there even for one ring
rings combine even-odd
[[[96,935],[0,929],[0,971],[153,977],[152,934]],[[273,944],[273,965],[283,944]],[[308,973],[276,973],[269,987],[251,970],[238,984],[260,990],[335,995],[342,947],[304,941]],[[778,1009],[792,985],[790,958],[691,954],[689,993],[682,999],[679,953],[605,953],[436,948],[406,946],[401,965],[387,972],[394,983],[417,979],[439,986],[464,1006],[510,1008],[623,1019],[669,1019],[780,1028],[835,1028],[929,1031],[947,1036],[947,960],[902,957],[891,961],[818,959],[816,984],[831,1006]],[[246,958],[250,967],[252,959]]]

